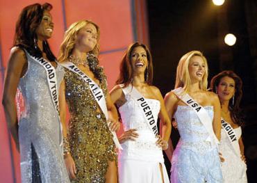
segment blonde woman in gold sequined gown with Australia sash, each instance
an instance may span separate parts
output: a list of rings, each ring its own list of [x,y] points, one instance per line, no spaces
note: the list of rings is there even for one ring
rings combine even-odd
[[[88,56],[90,54],[90,56]],[[65,163],[73,182],[117,182],[117,154],[113,131],[119,129],[117,110],[110,100],[103,68],[96,57],[99,54],[99,27],[82,20],[72,24],[65,33],[58,61],[69,61],[87,74],[103,90],[108,119],[91,93],[90,86],[78,74],[66,70],[61,85],[60,108],[69,108],[69,129],[65,141]],[[65,119],[65,113],[62,115]]]

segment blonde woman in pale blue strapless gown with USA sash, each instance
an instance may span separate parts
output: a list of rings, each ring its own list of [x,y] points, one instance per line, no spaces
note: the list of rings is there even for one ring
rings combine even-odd
[[[217,95],[207,91],[207,77],[206,58],[190,51],[179,61],[175,90],[165,96],[169,118],[174,116],[181,135],[172,156],[172,183],[222,182],[220,104]]]

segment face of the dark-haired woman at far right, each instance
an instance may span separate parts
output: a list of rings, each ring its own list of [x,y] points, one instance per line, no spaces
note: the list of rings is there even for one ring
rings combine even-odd
[[[217,95],[222,101],[229,101],[235,94],[235,80],[231,77],[222,77],[217,86]]]

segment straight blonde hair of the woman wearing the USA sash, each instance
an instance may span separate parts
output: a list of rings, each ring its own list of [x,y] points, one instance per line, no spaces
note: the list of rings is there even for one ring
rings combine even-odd
[[[208,85],[208,64],[205,56],[201,53],[201,51],[190,51],[186,54],[184,54],[180,61],[178,67],[176,67],[176,83],[175,83],[175,88],[182,87],[184,89],[184,92],[188,92],[188,87],[191,83],[190,79],[190,74],[188,71],[188,66],[190,63],[190,60],[193,56],[200,56],[205,65],[205,70],[204,70],[204,77],[201,81],[199,81],[199,88],[201,90],[206,91],[207,90],[207,85]]]

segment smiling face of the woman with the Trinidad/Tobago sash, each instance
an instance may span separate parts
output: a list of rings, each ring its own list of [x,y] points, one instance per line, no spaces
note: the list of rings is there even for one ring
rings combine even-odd
[[[35,30],[35,33],[38,35],[38,40],[47,40],[51,38],[53,33],[53,21],[48,10],[44,10],[42,20]]]

